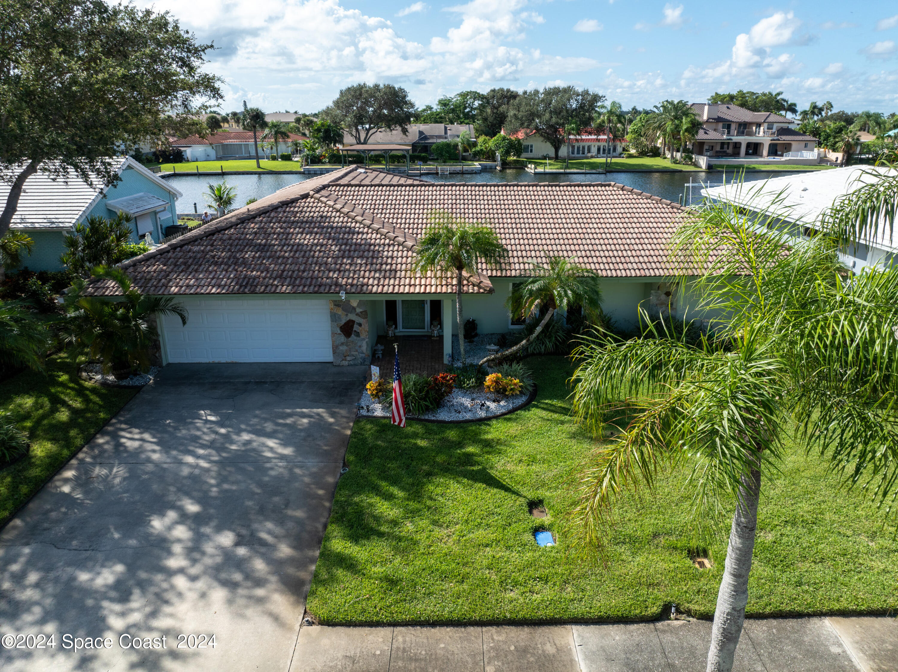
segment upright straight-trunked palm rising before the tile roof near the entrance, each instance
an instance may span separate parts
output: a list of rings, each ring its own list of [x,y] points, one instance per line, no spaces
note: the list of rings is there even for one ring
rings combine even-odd
[[[435,211],[430,224],[418,239],[411,272],[419,275],[455,276],[455,319],[458,320],[458,347],[464,358],[462,284],[464,275],[478,275],[480,266],[501,267],[508,250],[487,223],[470,223],[452,214]],[[448,327],[446,327],[448,328]]]

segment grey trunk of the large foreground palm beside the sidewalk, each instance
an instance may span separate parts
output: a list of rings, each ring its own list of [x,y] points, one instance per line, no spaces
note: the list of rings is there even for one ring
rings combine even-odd
[[[758,525],[758,498],[761,494],[761,472],[752,469],[739,486],[739,502],[733,514],[726,567],[718,591],[718,607],[714,612],[711,647],[707,672],[730,672],[735,648],[739,644],[748,604],[748,572],[752,569],[754,534]]]

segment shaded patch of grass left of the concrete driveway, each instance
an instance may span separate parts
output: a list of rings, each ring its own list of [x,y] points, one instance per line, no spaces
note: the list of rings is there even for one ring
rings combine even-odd
[[[26,458],[0,470],[0,526],[136,392],[80,380],[67,354],[51,357],[45,373],[23,371],[0,382],[0,411],[13,414],[31,441]]]

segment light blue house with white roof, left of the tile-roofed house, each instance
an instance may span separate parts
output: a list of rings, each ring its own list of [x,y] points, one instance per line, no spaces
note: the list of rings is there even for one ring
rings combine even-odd
[[[165,228],[178,222],[178,189],[130,157],[110,161],[121,180],[108,188],[101,188],[99,181],[91,187],[75,173],[54,179],[40,170],[25,182],[11,227],[34,241],[22,266],[32,271],[61,269],[64,236],[92,214],[106,219],[119,211],[132,215],[135,242],[147,233],[158,242],[164,238]],[[8,194],[9,184],[0,181],[0,203]]]

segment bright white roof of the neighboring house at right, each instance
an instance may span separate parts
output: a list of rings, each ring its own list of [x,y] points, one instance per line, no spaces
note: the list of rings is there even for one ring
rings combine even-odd
[[[722,187],[702,189],[701,193],[715,200],[744,205],[756,212],[775,210],[792,222],[812,223],[836,198],[874,181],[875,176],[870,172],[894,175],[896,171],[872,166],[848,166],[794,173],[757,182],[731,182]],[[864,242],[889,249],[898,244],[898,240],[892,240],[887,229],[885,232],[881,230],[877,240]]]

